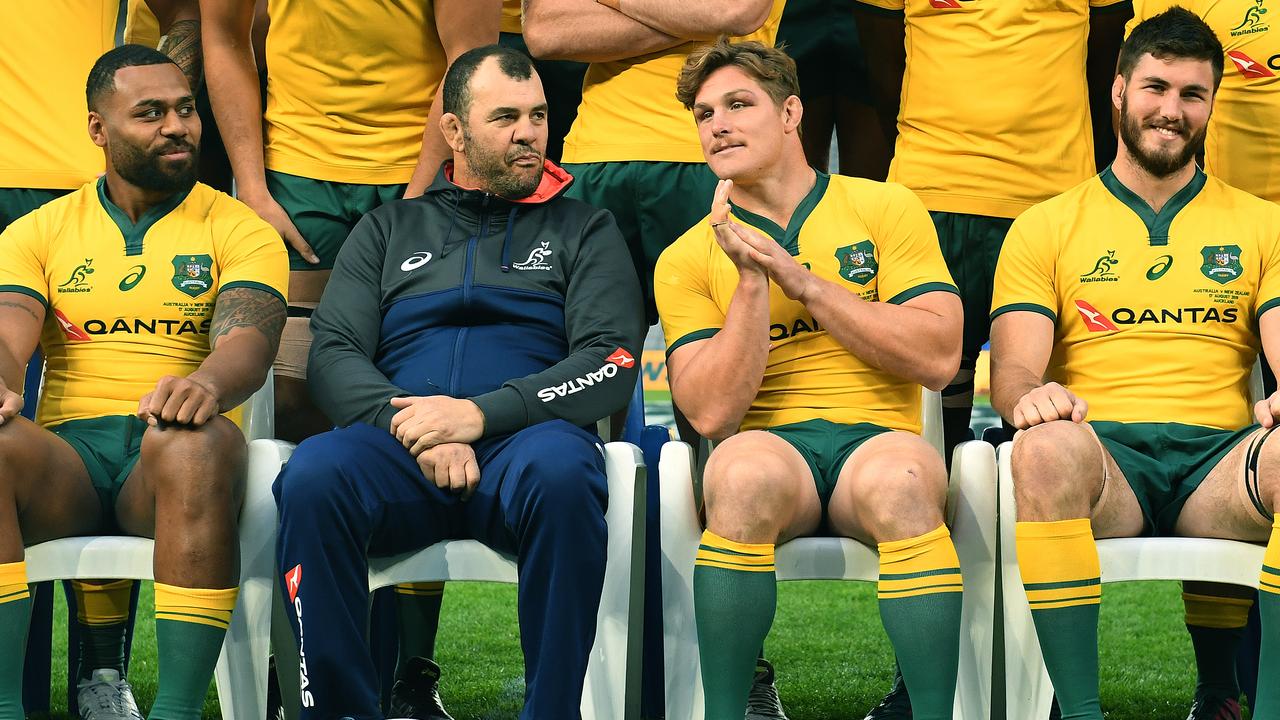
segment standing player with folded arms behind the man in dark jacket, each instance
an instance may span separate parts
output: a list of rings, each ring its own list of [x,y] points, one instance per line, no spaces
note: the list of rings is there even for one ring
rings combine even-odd
[[[564,138],[570,195],[604,208],[631,247],[648,320],[653,266],[707,211],[716,176],[671,88],[689,53],[721,35],[773,45],[785,0],[526,0],[535,58],[590,65]]]

